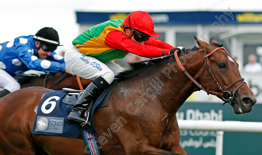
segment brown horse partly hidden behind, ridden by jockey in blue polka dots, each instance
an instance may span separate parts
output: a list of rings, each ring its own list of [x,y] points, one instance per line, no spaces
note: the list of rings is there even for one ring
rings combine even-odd
[[[80,88],[77,77],[68,75],[66,72],[56,72],[42,74],[41,76],[20,76],[18,82],[21,84],[21,88],[27,87],[45,87],[52,90],[62,90],[62,88],[71,89],[85,89],[92,81],[90,79],[79,78],[83,88]],[[57,83],[56,83],[57,82]],[[56,84],[55,84],[56,83]]]

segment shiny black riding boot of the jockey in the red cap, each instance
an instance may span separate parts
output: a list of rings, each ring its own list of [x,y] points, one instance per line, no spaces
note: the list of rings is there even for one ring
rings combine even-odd
[[[71,113],[66,119],[71,123],[85,123],[85,111],[83,110],[86,110],[88,105],[96,100],[107,86],[109,86],[108,82],[102,77],[93,80],[87,88],[85,88],[84,93],[77,100],[77,103],[73,106]]]

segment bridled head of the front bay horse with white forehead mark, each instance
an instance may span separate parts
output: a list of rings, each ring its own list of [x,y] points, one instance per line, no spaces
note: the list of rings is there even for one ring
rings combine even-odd
[[[196,39],[199,50],[205,53],[205,68],[199,75],[199,81],[204,88],[219,92],[217,95],[229,103],[234,113],[249,113],[256,103],[253,92],[248,88],[238,70],[238,63],[215,39],[210,44]]]

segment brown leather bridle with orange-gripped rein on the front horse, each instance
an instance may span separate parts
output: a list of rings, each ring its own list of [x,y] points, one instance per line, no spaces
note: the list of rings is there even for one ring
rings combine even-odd
[[[204,67],[203,67],[203,69],[202,69],[202,73],[201,73],[201,75],[200,75],[199,83],[198,83],[194,78],[192,78],[192,76],[189,75],[189,73],[187,73],[186,69],[182,66],[182,64],[180,63],[180,61],[179,61],[179,59],[178,59],[177,52],[175,52],[174,56],[175,56],[175,58],[176,58],[177,64],[180,66],[180,69],[187,75],[188,78],[191,79],[191,81],[192,81],[193,83],[195,83],[195,84],[200,88],[199,90],[204,90],[204,91],[207,93],[207,95],[211,94],[211,95],[215,95],[215,96],[218,96],[218,97],[222,97],[222,99],[223,99],[223,101],[224,101],[225,103],[231,104],[231,103],[232,103],[232,100],[233,100],[233,97],[234,97],[234,95],[235,95],[235,92],[240,88],[240,86],[241,86],[243,83],[245,83],[245,81],[244,81],[244,78],[241,77],[240,72],[239,72],[239,69],[237,68],[237,65],[236,65],[236,63],[235,63],[235,61],[234,61],[235,66],[236,66],[236,68],[237,68],[237,71],[238,71],[238,73],[239,73],[239,75],[240,75],[240,78],[237,79],[235,82],[231,83],[227,88],[224,88],[224,87],[221,85],[221,83],[219,82],[218,78],[216,77],[216,74],[215,74],[215,72],[214,72],[214,70],[213,70],[213,68],[212,68],[212,66],[211,66],[211,64],[210,64],[210,62],[209,62],[209,60],[208,60],[208,56],[210,56],[212,53],[216,52],[216,50],[218,50],[218,49],[223,49],[223,50],[226,52],[226,54],[234,61],[234,59],[230,56],[230,54],[229,54],[229,53],[226,51],[226,49],[223,48],[223,47],[218,47],[218,48],[214,49],[214,50],[213,50],[211,53],[209,53],[209,54],[206,54],[206,52],[204,52],[204,53],[205,53],[205,56],[204,56],[204,58],[205,58],[205,64],[204,64]],[[217,86],[217,88],[220,90],[220,92],[210,91],[209,88],[204,88],[203,86],[201,86],[201,78],[202,78],[202,75],[203,75],[203,73],[204,73],[204,70],[205,70],[206,66],[208,67],[209,73],[211,74],[212,78],[214,79],[214,82],[216,83],[216,86]],[[239,81],[242,81],[242,83],[240,83],[232,92],[229,92],[229,91],[228,91],[229,88],[231,88],[233,85],[235,85],[235,84],[238,83]],[[223,103],[223,105],[224,105],[225,103]]]

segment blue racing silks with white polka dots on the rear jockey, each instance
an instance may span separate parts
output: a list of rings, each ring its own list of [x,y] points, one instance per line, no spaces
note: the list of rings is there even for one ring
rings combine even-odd
[[[0,43],[0,68],[11,76],[28,70],[46,73],[65,71],[64,58],[54,52],[45,60],[37,58],[33,35],[17,37],[10,42]]]

